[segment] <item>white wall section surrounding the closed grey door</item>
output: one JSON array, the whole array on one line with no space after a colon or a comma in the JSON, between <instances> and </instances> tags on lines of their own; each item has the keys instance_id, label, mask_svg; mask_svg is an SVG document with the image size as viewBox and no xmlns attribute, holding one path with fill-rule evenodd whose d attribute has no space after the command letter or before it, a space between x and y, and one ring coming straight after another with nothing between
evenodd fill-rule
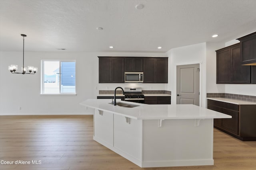
<instances>
[{"instance_id":1,"label":"white wall section surrounding the closed grey door","mask_svg":"<svg viewBox=\"0 0 256 170\"><path fill-rule=\"evenodd\" d=\"M206 107L206 43L178 47L167 52L169 57L169 83L167 90L172 91L172 104L176 104L176 66L200 64L200 103ZM203 94L203 95L202 95Z\"/></svg>"}]
</instances>

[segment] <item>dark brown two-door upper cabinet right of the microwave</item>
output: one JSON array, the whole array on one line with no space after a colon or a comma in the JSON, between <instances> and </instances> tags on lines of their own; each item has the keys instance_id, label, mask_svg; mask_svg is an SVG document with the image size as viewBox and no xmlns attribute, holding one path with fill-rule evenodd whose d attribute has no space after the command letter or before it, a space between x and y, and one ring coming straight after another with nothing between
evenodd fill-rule
<instances>
[{"instance_id":1,"label":"dark brown two-door upper cabinet right of the microwave","mask_svg":"<svg viewBox=\"0 0 256 170\"><path fill-rule=\"evenodd\" d=\"M144 58L144 83L168 83L168 58Z\"/></svg>"}]
</instances>

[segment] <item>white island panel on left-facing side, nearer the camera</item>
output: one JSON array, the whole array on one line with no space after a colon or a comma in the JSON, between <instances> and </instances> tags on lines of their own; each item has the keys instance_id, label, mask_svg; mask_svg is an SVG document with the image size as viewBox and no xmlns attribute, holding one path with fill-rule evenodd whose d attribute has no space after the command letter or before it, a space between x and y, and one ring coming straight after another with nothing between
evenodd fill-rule
<instances>
[{"instance_id":1,"label":"white island panel on left-facing side, nearer the camera","mask_svg":"<svg viewBox=\"0 0 256 170\"><path fill-rule=\"evenodd\" d=\"M114 114L114 148L119 150L118 154L141 166L142 120Z\"/></svg>"}]
</instances>

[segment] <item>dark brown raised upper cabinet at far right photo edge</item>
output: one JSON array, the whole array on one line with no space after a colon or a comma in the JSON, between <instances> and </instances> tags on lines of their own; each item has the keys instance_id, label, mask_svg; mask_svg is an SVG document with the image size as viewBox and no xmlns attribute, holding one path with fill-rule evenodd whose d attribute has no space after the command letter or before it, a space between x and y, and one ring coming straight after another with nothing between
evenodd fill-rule
<instances>
[{"instance_id":1,"label":"dark brown raised upper cabinet at far right photo edge","mask_svg":"<svg viewBox=\"0 0 256 170\"><path fill-rule=\"evenodd\" d=\"M241 64L256 65L256 32L238 38L241 47Z\"/></svg>"}]
</instances>

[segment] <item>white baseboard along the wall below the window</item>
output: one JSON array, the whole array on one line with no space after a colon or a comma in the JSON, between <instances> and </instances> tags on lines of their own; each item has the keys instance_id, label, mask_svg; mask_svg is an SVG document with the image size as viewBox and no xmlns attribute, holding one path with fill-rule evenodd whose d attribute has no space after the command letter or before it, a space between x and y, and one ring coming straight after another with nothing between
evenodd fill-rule
<instances>
[{"instance_id":1,"label":"white baseboard along the wall below the window","mask_svg":"<svg viewBox=\"0 0 256 170\"><path fill-rule=\"evenodd\" d=\"M93 115L93 113L0 113L0 116L10 115Z\"/></svg>"}]
</instances>

